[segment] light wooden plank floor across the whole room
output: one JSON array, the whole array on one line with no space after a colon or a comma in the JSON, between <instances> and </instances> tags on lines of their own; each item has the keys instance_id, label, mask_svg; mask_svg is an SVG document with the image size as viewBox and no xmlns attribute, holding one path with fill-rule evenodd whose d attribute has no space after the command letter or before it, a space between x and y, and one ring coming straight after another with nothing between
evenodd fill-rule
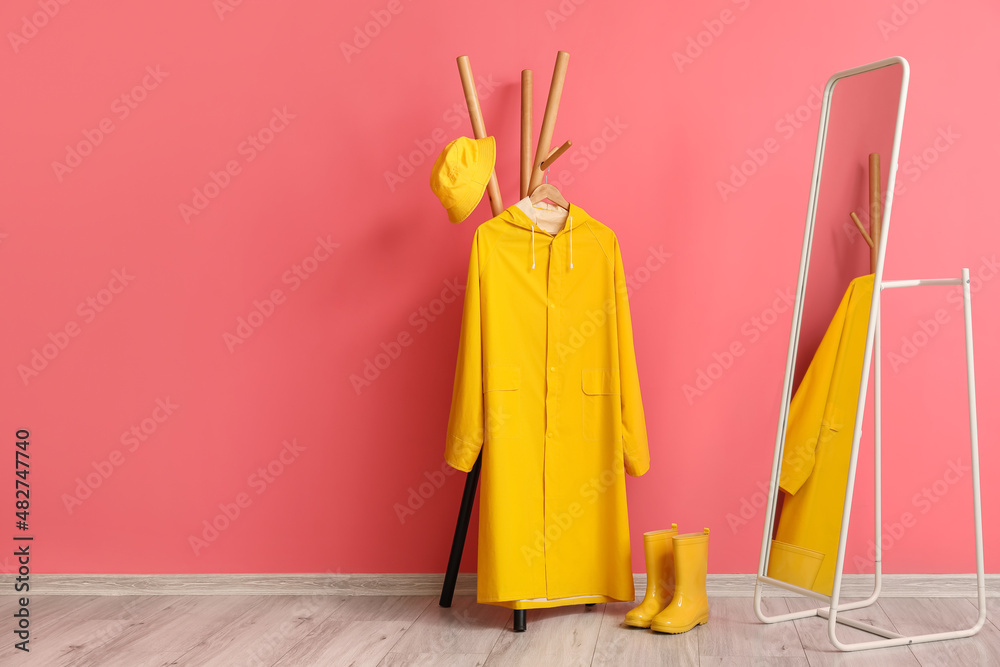
<instances>
[{"instance_id":1,"label":"light wooden plank floor across the whole room","mask_svg":"<svg viewBox=\"0 0 1000 667\"><path fill-rule=\"evenodd\" d=\"M767 598L772 614L805 609L804 598ZM710 598L711 618L682 635L623 626L632 603L512 612L457 597L37 596L31 652L3 632L0 665L1000 665L1000 631L988 620L976 637L841 653L818 618L764 625L750 598ZM1000 599L988 600L988 619ZM968 627L974 600L887 598L849 615L902 633ZM11 623L11 617L7 623ZM872 639L845 628L845 641Z\"/></svg>"}]
</instances>

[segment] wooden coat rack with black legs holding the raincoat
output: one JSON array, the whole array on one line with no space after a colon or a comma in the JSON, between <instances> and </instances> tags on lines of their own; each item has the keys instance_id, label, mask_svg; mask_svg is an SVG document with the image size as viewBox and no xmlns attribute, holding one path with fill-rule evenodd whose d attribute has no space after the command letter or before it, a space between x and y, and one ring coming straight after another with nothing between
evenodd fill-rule
<instances>
[{"instance_id":1,"label":"wooden coat rack with black legs holding the raincoat","mask_svg":"<svg viewBox=\"0 0 1000 667\"><path fill-rule=\"evenodd\" d=\"M531 111L532 111L532 73L530 69L521 70L521 180L519 192L521 199L534 192L541 184L544 172L559 156L572 146L567 141L559 148L549 152L552 146L552 134L555 130L556 115L559 112L559 99L562 97L563 82L566 79L566 68L569 65L569 53L559 51L556 54L556 64L552 71L552 82L549 84L549 96L545 102L545 115L542 116L542 127L538 134L538 147L534 156L531 153ZM458 73L462 79L462 90L465 92L465 103L469 108L469 120L472 121L472 132L476 139L486 138L486 125L483 122L483 111L479 106L479 95L476 93L475 80L472 77L472 66L468 56L458 57ZM503 212L503 201L500 198L500 186L497 183L496 170L490 175L486 186L490 197L490 208L493 215ZM479 471L483 464L483 454L479 453L475 465L465 478L465 491L462 493L462 503L458 509L458 522L455 525L455 537L451 543L451 554L448 556L448 569L445 571L444 585L441 588L442 607L450 607L455 596L455 583L458 581L458 568L462 562L462 552L465 550L465 538L469 532L469 520L472 517L472 505L476 499L476 488L479 486ZM592 606L592 605L587 605ZM524 632L527 628L527 613L525 609L514 610L514 632Z\"/></svg>"}]
</instances>

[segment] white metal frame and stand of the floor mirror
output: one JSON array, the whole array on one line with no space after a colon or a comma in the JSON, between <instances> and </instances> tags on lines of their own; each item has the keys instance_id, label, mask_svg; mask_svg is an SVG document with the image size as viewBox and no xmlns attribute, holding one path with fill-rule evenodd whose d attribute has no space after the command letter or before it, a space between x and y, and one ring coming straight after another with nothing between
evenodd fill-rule
<instances>
[{"instance_id":1,"label":"white metal frame and stand of the floor mirror","mask_svg":"<svg viewBox=\"0 0 1000 667\"><path fill-rule=\"evenodd\" d=\"M896 125L893 135L892 142L892 157L889 161L889 178L886 186L885 195L885 206L884 213L882 217L882 227L881 227L881 237L879 239L878 248L878 258L875 266L875 279L874 287L872 289L872 304L871 310L868 318L868 332L865 341L865 355L864 355L864 366L862 368L861 374L861 388L858 392L858 405L857 413L854 421L854 434L851 443L851 462L850 469L847 478L847 488L844 496L844 511L841 517L841 529L840 529L840 545L837 550L837 565L834 575L833 582L833 594L831 596L824 595L822 593L817 593L816 591L802 588L800 586L795 586L778 579L773 579L766 576L768 558L770 555L769 546L771 543L771 536L774 533L774 523L775 523L775 509L777 507L778 500L778 480L780 475L780 464L784 454L784 442L785 435L788 427L788 411L790 407L791 394L792 394L792 383L795 371L795 359L798 352L798 341L799 332L802 323L802 307L805 301L805 288L806 288L806 277L809 270L809 256L812 251L812 240L813 231L816 222L816 208L819 199L819 186L822 175L823 167L823 154L826 147L826 133L827 125L830 116L830 103L833 96L833 89L836 83L846 77L862 74L864 72L869 72L876 69L881 69L883 67L888 67L891 65L900 65L902 67L902 80L900 82L899 91L899 108L896 115ZM962 278L958 279L943 279L943 280L901 280L901 281L889 281L883 282L882 280L882 268L885 260L885 249L887 245L887 240L889 238L889 222L890 215L892 213L892 200L893 200L893 190L895 188L896 182L896 169L898 166L898 156L899 156L899 143L900 137L903 130L903 112L906 108L906 92L909 85L910 79L910 67L904 58L893 57L887 58L885 60L879 60L877 62L870 63L868 65L863 65L861 67L855 67L852 69L844 70L842 72L837 72L830 80L827 81L826 89L823 93L823 110L820 116L819 134L816 141L816 156L813 163L813 174L812 174L812 184L810 186L809 192L809 209L806 217L806 230L802 241L802 259L799 264L799 277L798 286L796 288L795 294L795 307L792 316L792 330L789 336L788 342L788 356L785 362L785 381L784 387L781 393L781 410L778 420L778 431L775 438L774 446L774 461L771 466L771 483L768 490L768 504L767 512L764 517L764 534L761 543L760 551L760 561L757 570L757 583L754 590L754 611L757 617L764 623L776 623L780 621L789 621L799 618L807 618L810 616L820 616L827 618L829 620L829 638L831 643L840 650L843 651L856 651L869 648L882 648L888 646L900 646L906 644L915 644L928 641L937 641L942 639L953 639L958 637L969 637L976 634L984 625L986 621L986 589L985 589L985 575L983 566L983 548L982 548L982 518L980 512L980 492L979 492L979 450L978 450L978 438L977 438L977 428L976 428L976 402L975 402L975 376L973 371L973 359L972 359L972 320L971 320L971 303L970 303L970 289L969 289L969 273L968 269L963 269ZM885 630L882 628L877 628L875 626L860 623L854 621L853 619L838 618L837 614L839 612L848 611L851 609L860 609L863 607L870 606L875 603L878 599L879 593L882 588L882 531L881 531L881 382L880 382L880 327L879 327L879 311L881 305L881 293L883 289L888 289L891 287L915 287L915 286L925 286L925 285L961 285L963 288L963 299L965 305L965 322L966 322L966 363L967 363L967 378L968 378L968 389L969 389L969 418L971 425L971 441L972 441L972 479L973 479L973 507L974 507L974 519L976 526L976 565L977 565L977 583L978 583L978 593L979 593L979 617L977 623L971 628L965 630L956 630L948 632L938 632L925 635L914 635L914 636L903 636L898 633ZM868 375L869 370L872 367L872 359L875 359L875 376L874 376L874 454L875 454L875 582L874 590L872 594L860 601L851 602L847 604L840 604L841 587L843 584L843 569L844 569L844 559L847 546L847 533L850 524L851 515L851 501L854 495L854 482L855 482L855 472L857 470L857 460L858 451L861 441L861 426L864 421L864 410L865 401L868 392ZM808 609L800 612L793 612L789 614L781 614L778 616L769 616L764 613L761 608L761 599L763 593L763 585L770 584L778 588L782 588L786 591L793 593L798 593L810 598L817 600L822 600L829 603L829 606L819 607L815 609ZM836 626L838 623L848 625L859 630L864 630L876 634L878 636L884 637L885 639L868 641L868 642L855 642L850 644L845 644L840 641L837 637Z\"/></svg>"}]
</instances>

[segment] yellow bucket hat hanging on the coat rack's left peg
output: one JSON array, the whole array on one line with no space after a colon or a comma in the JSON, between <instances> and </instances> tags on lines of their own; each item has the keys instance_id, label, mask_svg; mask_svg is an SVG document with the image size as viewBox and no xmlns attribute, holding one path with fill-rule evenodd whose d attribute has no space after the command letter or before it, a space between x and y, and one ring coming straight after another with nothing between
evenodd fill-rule
<instances>
[{"instance_id":1,"label":"yellow bucket hat hanging on the coat rack's left peg","mask_svg":"<svg viewBox=\"0 0 1000 667\"><path fill-rule=\"evenodd\" d=\"M449 220L462 222L479 206L496 157L493 137L459 137L441 151L431 169L431 190L448 211Z\"/></svg>"}]
</instances>

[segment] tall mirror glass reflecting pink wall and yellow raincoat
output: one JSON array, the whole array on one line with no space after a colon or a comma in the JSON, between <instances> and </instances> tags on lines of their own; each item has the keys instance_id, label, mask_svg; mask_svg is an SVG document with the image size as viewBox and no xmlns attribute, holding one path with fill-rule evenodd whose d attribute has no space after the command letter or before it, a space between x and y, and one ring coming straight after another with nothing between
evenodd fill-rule
<instances>
[{"instance_id":1,"label":"tall mirror glass reflecting pink wall and yellow raincoat","mask_svg":"<svg viewBox=\"0 0 1000 667\"><path fill-rule=\"evenodd\" d=\"M773 579L824 595L833 590L871 313L877 221L893 185L889 166L904 78L899 63L837 76L825 141L818 142L813 224L810 229L807 222L803 244L798 338L789 346L792 377L786 378L792 398L766 570ZM852 212L875 236L876 250Z\"/></svg>"}]
</instances>

